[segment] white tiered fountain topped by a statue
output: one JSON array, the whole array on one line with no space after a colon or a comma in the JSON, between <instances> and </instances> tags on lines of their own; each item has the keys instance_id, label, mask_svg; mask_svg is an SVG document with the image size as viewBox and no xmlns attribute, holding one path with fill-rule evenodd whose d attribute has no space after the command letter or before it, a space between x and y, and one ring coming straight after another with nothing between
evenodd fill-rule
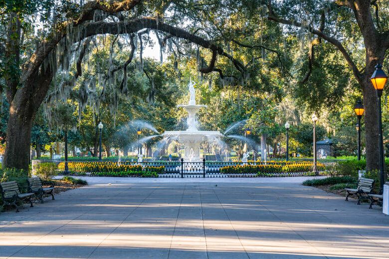
<instances>
[{"instance_id":1,"label":"white tiered fountain topped by a statue","mask_svg":"<svg viewBox=\"0 0 389 259\"><path fill-rule=\"evenodd\" d=\"M184 161L186 162L200 162L200 143L206 139L216 140L222 134L219 131L202 131L197 129L196 113L200 108L206 108L206 105L196 105L195 101L195 83L189 82L189 92L191 99L188 105L178 105L177 107L184 107L188 112L187 124L188 129L186 131L165 131L162 136L171 137L182 143L185 147Z\"/></svg>"}]
</instances>

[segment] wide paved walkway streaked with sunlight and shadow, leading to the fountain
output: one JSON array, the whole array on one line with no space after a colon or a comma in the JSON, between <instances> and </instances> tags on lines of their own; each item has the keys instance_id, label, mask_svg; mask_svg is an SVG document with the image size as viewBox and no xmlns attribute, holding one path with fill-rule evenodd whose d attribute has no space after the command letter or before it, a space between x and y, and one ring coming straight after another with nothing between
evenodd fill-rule
<instances>
[{"instance_id":1,"label":"wide paved walkway streaked with sunlight and shadow, leading to the fountain","mask_svg":"<svg viewBox=\"0 0 389 259\"><path fill-rule=\"evenodd\" d=\"M55 201L1 213L0 258L389 258L379 207L302 178L168 180L91 177Z\"/></svg>"}]
</instances>

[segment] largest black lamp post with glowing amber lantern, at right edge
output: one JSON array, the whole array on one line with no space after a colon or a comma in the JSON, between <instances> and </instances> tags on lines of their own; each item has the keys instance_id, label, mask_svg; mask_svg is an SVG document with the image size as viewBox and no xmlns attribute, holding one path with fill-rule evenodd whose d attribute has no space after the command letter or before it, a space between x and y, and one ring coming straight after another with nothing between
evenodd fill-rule
<instances>
[{"instance_id":1,"label":"largest black lamp post with glowing amber lantern, at right edge","mask_svg":"<svg viewBox=\"0 0 389 259\"><path fill-rule=\"evenodd\" d=\"M370 80L372 80L373 86L376 89L378 97L378 123L379 123L379 135L380 135L380 187L384 188L384 140L382 136L382 116L381 116L381 96L384 90L385 83L387 82L388 76L382 70L382 65L377 64L376 70L374 71Z\"/></svg>"}]
</instances>

